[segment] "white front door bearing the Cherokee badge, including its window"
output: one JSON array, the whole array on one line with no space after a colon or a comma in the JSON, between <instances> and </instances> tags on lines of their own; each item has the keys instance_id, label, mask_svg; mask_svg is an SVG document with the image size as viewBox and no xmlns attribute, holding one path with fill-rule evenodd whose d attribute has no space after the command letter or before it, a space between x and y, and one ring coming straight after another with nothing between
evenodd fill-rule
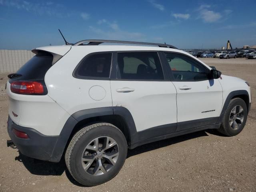
<instances>
[{"instance_id":1,"label":"white front door bearing the Cherokee badge, including its window","mask_svg":"<svg viewBox=\"0 0 256 192\"><path fill-rule=\"evenodd\" d=\"M172 82L177 90L177 130L215 124L222 109L222 87L208 79L210 70L194 58L165 52Z\"/></svg>"}]
</instances>

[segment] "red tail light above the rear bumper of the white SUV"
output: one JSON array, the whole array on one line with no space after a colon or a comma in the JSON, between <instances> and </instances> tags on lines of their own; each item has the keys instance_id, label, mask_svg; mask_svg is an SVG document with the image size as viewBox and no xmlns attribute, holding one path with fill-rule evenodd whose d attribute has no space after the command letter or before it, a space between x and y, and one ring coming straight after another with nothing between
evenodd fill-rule
<instances>
[{"instance_id":1,"label":"red tail light above the rear bumper of the white SUV","mask_svg":"<svg viewBox=\"0 0 256 192\"><path fill-rule=\"evenodd\" d=\"M46 87L39 81L14 81L11 83L11 92L27 95L44 95Z\"/></svg>"}]
</instances>

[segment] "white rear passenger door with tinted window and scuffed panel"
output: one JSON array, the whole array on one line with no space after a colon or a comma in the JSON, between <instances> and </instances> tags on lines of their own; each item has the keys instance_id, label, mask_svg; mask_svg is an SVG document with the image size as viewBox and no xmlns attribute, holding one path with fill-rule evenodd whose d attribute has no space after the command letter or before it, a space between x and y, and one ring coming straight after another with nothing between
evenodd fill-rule
<instances>
[{"instance_id":1,"label":"white rear passenger door with tinted window and scuffed panel","mask_svg":"<svg viewBox=\"0 0 256 192\"><path fill-rule=\"evenodd\" d=\"M117 76L110 80L113 106L130 111L142 133L139 140L175 132L176 88L158 52L117 52L116 61Z\"/></svg>"}]
</instances>

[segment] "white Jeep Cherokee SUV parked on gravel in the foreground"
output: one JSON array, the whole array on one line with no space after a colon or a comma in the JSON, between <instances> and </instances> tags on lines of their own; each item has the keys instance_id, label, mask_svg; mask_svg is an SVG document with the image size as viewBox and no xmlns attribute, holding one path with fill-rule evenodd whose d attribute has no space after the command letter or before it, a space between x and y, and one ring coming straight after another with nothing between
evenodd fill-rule
<instances>
[{"instance_id":1,"label":"white Jeep Cherokee SUV parked on gravel in the foreground","mask_svg":"<svg viewBox=\"0 0 256 192\"><path fill-rule=\"evenodd\" d=\"M246 81L171 45L84 40L32 52L8 75L8 144L40 160L64 156L86 186L113 178L127 148L206 129L234 136L250 110Z\"/></svg>"}]
</instances>

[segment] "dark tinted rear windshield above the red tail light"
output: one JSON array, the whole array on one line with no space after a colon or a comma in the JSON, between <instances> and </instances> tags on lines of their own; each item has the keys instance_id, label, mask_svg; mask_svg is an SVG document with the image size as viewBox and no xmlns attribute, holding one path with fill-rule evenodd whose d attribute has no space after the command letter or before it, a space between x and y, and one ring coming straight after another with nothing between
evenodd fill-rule
<instances>
[{"instance_id":1,"label":"dark tinted rear windshield above the red tail light","mask_svg":"<svg viewBox=\"0 0 256 192\"><path fill-rule=\"evenodd\" d=\"M39 52L24 64L16 73L22 80L44 80L46 72L52 66L53 56L50 53Z\"/></svg>"}]
</instances>

